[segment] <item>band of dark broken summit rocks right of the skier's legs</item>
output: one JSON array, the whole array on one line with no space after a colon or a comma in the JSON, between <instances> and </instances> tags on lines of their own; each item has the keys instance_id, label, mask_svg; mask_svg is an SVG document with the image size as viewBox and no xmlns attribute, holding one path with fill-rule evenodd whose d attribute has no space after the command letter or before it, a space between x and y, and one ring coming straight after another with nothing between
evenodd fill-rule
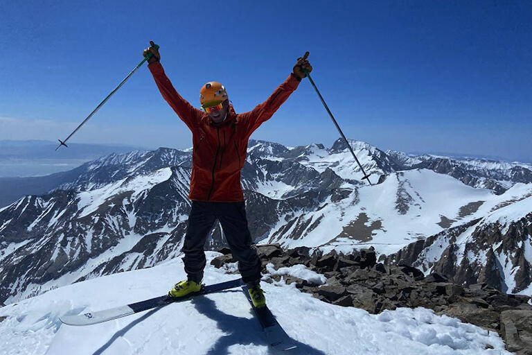
<instances>
[{"instance_id":1,"label":"band of dark broken summit rocks right of the skier's legs","mask_svg":"<svg viewBox=\"0 0 532 355\"><path fill-rule=\"evenodd\" d=\"M506 341L509 351L531 354L532 306L526 295L507 295L486 283L465 287L455 284L445 275L433 272L427 277L406 263L386 266L375 263L373 248L355 254L328 254L308 248L282 250L278 244L257 245L263 272L267 263L275 269L304 264L310 270L323 273L326 284L313 285L293 276L285 276L287 284L312 293L323 302L337 306L354 306L369 313L380 313L398 307L425 307L440 315L449 315L462 322L497 331ZM227 252L227 250L226 250ZM231 261L224 254L211 262L216 267ZM272 277L280 281L280 276ZM265 279L272 282L272 279Z\"/></svg>"}]
</instances>

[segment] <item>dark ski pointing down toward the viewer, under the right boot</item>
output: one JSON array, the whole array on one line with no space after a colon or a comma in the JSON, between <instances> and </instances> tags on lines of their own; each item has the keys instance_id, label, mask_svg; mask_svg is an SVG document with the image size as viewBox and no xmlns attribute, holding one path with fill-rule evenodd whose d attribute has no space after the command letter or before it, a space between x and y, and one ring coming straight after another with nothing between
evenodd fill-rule
<instances>
[{"instance_id":1,"label":"dark ski pointing down toward the viewer, under the right boot","mask_svg":"<svg viewBox=\"0 0 532 355\"><path fill-rule=\"evenodd\" d=\"M277 322L272 311L270 311L267 306L256 308L253 305L253 301L251 300L249 292L247 292L247 284L242 282L240 286L242 287L242 291L244 291L249 304L251 304L251 308L260 322L260 326L263 327L268 345L278 352L287 352L292 349L296 349L296 343L294 343L294 340L292 340L292 338L286 334L285 329L283 329L281 324Z\"/></svg>"}]
</instances>

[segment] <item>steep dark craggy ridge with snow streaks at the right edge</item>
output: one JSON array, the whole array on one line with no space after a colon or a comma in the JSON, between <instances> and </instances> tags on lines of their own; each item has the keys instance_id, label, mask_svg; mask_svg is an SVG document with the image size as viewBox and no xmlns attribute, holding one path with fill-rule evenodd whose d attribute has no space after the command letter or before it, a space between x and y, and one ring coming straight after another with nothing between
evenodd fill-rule
<instances>
[{"instance_id":1,"label":"steep dark craggy ridge with snow streaks at the right edge","mask_svg":"<svg viewBox=\"0 0 532 355\"><path fill-rule=\"evenodd\" d=\"M471 232L465 233L469 228ZM532 265L526 259L530 249L532 212L506 224L472 220L410 243L382 257L382 261L387 265L406 263L424 272L438 272L463 286L484 283L502 292L518 293L532 282Z\"/></svg>"}]
</instances>

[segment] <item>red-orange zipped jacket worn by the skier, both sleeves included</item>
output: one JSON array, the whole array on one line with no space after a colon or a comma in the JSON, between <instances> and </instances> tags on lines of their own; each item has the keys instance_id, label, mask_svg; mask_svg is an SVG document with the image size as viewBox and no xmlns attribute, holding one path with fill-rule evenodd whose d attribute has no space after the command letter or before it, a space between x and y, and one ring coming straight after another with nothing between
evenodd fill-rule
<instances>
[{"instance_id":1,"label":"red-orange zipped jacket worn by the skier, both sleeves included","mask_svg":"<svg viewBox=\"0 0 532 355\"><path fill-rule=\"evenodd\" d=\"M294 92L299 81L290 74L272 96L253 110L236 114L229 105L227 119L215 124L206 112L182 98L170 83L159 62L148 66L163 98L192 131L192 176L190 200L243 201L240 171L246 161L247 141L261 123Z\"/></svg>"}]
</instances>

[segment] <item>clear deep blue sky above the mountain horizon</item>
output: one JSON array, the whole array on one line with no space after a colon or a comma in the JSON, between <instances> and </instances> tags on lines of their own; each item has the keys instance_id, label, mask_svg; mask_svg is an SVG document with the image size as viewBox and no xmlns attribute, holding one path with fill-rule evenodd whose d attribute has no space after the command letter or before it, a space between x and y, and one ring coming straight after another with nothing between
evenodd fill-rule
<instances>
[{"instance_id":1,"label":"clear deep blue sky above the mountain horizon","mask_svg":"<svg viewBox=\"0 0 532 355\"><path fill-rule=\"evenodd\" d=\"M0 139L64 139L154 40L186 99L225 85L251 110L310 51L351 139L532 162L532 1L0 0ZM339 137L308 80L252 136ZM142 67L71 140L187 148Z\"/></svg>"}]
</instances>

